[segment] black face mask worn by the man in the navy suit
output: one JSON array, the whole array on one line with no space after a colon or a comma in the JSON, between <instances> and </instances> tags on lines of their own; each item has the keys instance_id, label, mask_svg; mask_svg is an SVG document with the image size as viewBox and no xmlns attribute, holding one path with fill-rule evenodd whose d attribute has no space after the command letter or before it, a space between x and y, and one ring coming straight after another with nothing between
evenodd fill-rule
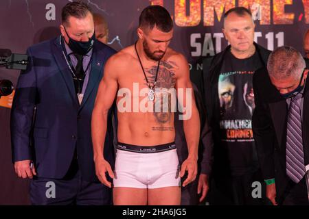
<instances>
[{"instance_id":1,"label":"black face mask worn by the man in the navy suit","mask_svg":"<svg viewBox=\"0 0 309 219\"><path fill-rule=\"evenodd\" d=\"M66 29L65 33L67 34ZM67 45L73 51L73 53L86 55L93 48L95 32L93 32L93 36L91 36L91 38L87 42L73 40L72 38L70 38L69 34L67 34L67 37L69 38L69 43L67 43Z\"/></svg>"}]
</instances>

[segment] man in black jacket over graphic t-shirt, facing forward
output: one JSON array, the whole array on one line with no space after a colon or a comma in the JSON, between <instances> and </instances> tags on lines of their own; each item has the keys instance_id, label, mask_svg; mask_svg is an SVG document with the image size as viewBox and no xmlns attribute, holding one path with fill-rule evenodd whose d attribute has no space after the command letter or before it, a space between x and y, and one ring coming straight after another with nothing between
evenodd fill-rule
<instances>
[{"instance_id":1,"label":"man in black jacket over graphic t-shirt, facing forward","mask_svg":"<svg viewBox=\"0 0 309 219\"><path fill-rule=\"evenodd\" d=\"M233 205L264 202L264 197L252 196L252 183L262 181L251 129L255 108L252 77L266 65L270 51L253 42L254 28L247 8L225 13L222 31L230 45L203 60L203 84L199 85L214 137L216 188Z\"/></svg>"}]
</instances>

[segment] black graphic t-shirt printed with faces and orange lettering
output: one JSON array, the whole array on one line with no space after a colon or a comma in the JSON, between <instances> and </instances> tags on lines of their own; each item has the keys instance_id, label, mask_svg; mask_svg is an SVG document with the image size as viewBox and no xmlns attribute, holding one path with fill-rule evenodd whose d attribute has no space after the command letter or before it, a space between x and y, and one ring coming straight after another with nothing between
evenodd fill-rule
<instances>
[{"instance_id":1,"label":"black graphic t-shirt printed with faces and orange lettering","mask_svg":"<svg viewBox=\"0 0 309 219\"><path fill-rule=\"evenodd\" d=\"M231 175L245 175L258 169L251 125L255 108L252 78L261 67L257 51L246 59L238 59L229 51L222 64L218 80L220 147L228 159Z\"/></svg>"}]
</instances>

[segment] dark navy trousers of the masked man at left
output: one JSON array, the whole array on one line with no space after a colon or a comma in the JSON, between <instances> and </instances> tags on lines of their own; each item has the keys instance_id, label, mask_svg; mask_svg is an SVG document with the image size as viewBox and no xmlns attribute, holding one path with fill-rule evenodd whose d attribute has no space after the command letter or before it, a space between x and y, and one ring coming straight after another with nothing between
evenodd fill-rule
<instances>
[{"instance_id":1,"label":"dark navy trousers of the masked man at left","mask_svg":"<svg viewBox=\"0 0 309 219\"><path fill-rule=\"evenodd\" d=\"M102 183L84 181L73 159L63 179L34 177L30 182L32 205L111 205L111 189Z\"/></svg>"}]
</instances>

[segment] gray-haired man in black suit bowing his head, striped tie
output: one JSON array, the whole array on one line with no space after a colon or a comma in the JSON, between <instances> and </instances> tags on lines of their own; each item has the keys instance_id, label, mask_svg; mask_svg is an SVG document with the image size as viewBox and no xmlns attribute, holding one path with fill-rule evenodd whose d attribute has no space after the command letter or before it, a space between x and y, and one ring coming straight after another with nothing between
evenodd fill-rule
<instances>
[{"instance_id":1,"label":"gray-haired man in black suit bowing his head, striped tie","mask_svg":"<svg viewBox=\"0 0 309 219\"><path fill-rule=\"evenodd\" d=\"M253 135L266 195L273 205L308 205L309 92L306 62L279 47L253 76Z\"/></svg>"}]
</instances>

